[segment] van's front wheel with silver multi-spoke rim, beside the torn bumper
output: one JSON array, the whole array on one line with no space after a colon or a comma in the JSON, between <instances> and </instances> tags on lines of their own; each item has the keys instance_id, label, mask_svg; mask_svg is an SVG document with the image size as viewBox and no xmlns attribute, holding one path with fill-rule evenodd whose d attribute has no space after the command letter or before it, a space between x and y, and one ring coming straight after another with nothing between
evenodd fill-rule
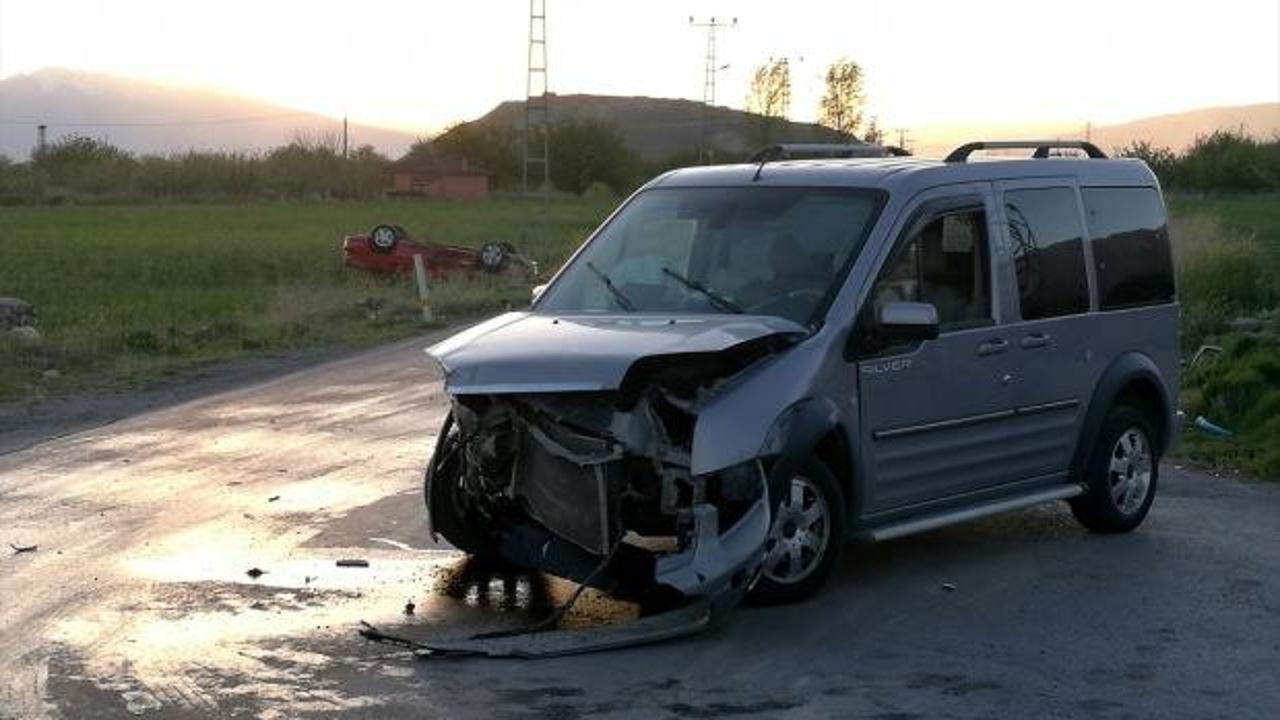
<instances>
[{"instance_id":1,"label":"van's front wheel with silver multi-spoke rim, beside the torn bumper","mask_svg":"<svg viewBox=\"0 0 1280 720\"><path fill-rule=\"evenodd\" d=\"M764 566L749 593L751 602L778 605L804 600L831 575L845 538L845 501L831 470L810 457L774 496L764 544Z\"/></svg>"}]
</instances>

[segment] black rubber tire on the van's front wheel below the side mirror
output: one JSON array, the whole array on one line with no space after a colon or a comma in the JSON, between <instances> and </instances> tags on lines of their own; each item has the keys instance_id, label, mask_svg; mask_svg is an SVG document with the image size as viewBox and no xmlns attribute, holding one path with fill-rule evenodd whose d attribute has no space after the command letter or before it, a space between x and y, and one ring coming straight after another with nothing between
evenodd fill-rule
<instances>
[{"instance_id":1,"label":"black rubber tire on the van's front wheel below the side mirror","mask_svg":"<svg viewBox=\"0 0 1280 720\"><path fill-rule=\"evenodd\" d=\"M840 489L836 475L820 460L809 457L787 486L797 480L803 480L801 484L805 487L801 505L805 505L812 491L814 501L820 498L826 507L823 516L826 539L817 551L801 550L800 566L804 569L803 574L799 574L794 580L785 579L787 573L782 571L781 562L787 562L787 570L790 570L790 562L782 560L774 566L772 559L776 551L787 552L785 544L780 548L780 543L796 541L803 530L795 527L795 524L787 527L787 506L792 505L790 502L791 488L786 486L771 488L769 495L776 498L772 500L773 527L769 529L769 539L765 543L764 568L760 571L759 579L756 579L748 593L748 600L753 603L782 605L812 597L827 582L831 570L836 566L836 560L840 557L840 551L845 546L845 496ZM805 528L805 530L812 530L812 528L813 525ZM788 530L791 530L790 536ZM810 556L812 561L809 560Z\"/></svg>"}]
</instances>

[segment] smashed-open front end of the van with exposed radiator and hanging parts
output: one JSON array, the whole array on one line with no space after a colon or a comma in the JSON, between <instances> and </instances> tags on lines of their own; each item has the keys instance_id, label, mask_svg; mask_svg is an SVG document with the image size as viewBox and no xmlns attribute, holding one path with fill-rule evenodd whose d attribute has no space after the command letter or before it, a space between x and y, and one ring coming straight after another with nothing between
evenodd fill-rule
<instances>
[{"instance_id":1,"label":"smashed-open front end of the van with exposed radiator and hanging parts","mask_svg":"<svg viewBox=\"0 0 1280 720\"><path fill-rule=\"evenodd\" d=\"M643 357L611 391L452 396L428 468L433 532L620 597L745 591L771 459L695 475L694 427L722 384L787 343Z\"/></svg>"}]
</instances>

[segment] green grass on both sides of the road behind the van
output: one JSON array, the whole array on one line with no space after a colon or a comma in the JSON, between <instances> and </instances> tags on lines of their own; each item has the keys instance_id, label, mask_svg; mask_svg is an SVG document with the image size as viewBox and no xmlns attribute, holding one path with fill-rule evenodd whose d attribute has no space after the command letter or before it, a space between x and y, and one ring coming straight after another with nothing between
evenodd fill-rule
<instances>
[{"instance_id":1,"label":"green grass on both sides of the road behind the van","mask_svg":"<svg viewBox=\"0 0 1280 720\"><path fill-rule=\"evenodd\" d=\"M415 234L479 246L507 240L549 272L616 200L559 199L547 232L520 242L536 204L247 202L5 208L0 296L36 305L44 341L0 340L0 400L152 382L192 365L300 347L358 347L424 324L407 278L343 268L344 233L394 222ZM1280 197L1170 199L1183 350L1225 345L1217 365L1185 378L1192 418L1238 428L1230 441L1188 432L1184 452L1260 477L1280 477ZM436 313L461 318L524 305L527 288L454 281L434 291ZM1258 343L1236 343L1229 322L1260 316ZM1267 334L1267 329L1271 328ZM58 377L46 377L46 370ZM1261 409L1261 410L1260 410ZM1271 410L1267 410L1271 409ZM1260 415L1263 413L1263 415Z\"/></svg>"}]
</instances>

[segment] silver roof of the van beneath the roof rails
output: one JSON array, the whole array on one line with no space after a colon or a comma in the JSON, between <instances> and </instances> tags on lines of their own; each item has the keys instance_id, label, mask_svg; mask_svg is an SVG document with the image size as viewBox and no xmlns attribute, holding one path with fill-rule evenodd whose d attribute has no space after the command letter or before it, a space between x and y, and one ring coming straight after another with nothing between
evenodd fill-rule
<instances>
[{"instance_id":1,"label":"silver roof of the van beneath the roof rails","mask_svg":"<svg viewBox=\"0 0 1280 720\"><path fill-rule=\"evenodd\" d=\"M759 170L759 178L755 178ZM873 187L916 192L959 182L1075 177L1084 186L1156 186L1142 160L1085 158L1014 158L945 163L920 158L845 158L777 163L707 165L672 170L649 187Z\"/></svg>"}]
</instances>

